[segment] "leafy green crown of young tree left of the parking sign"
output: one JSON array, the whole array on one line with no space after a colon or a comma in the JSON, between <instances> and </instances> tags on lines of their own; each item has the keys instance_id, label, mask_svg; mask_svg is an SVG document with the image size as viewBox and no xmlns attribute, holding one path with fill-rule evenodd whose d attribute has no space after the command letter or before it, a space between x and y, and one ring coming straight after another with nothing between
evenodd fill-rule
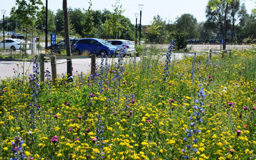
<instances>
[{"instance_id":1,"label":"leafy green crown of young tree left of the parking sign","mask_svg":"<svg viewBox=\"0 0 256 160\"><path fill-rule=\"evenodd\" d=\"M16 0L16 8L12 7L11 17L12 20L20 20L21 24L24 24L26 28L33 26L37 21L40 21L40 14L44 11L43 2L41 0ZM41 9L40 9L40 6Z\"/></svg>"}]
</instances>

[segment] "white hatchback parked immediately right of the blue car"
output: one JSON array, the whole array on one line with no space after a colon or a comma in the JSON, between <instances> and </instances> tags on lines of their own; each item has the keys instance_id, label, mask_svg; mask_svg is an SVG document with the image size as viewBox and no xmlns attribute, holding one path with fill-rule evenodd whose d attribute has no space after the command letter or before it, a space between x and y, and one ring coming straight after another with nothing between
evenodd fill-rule
<instances>
[{"instance_id":1,"label":"white hatchback parked immediately right of the blue car","mask_svg":"<svg viewBox=\"0 0 256 160\"><path fill-rule=\"evenodd\" d=\"M110 41L107 41L108 43L118 47L119 49L122 48L122 44L123 45L126 45L126 48L124 49L124 52L126 55L129 55L131 53L134 52L134 45L132 44L131 41L127 41L127 40L110 40ZM129 52L130 51L130 52Z\"/></svg>"}]
</instances>

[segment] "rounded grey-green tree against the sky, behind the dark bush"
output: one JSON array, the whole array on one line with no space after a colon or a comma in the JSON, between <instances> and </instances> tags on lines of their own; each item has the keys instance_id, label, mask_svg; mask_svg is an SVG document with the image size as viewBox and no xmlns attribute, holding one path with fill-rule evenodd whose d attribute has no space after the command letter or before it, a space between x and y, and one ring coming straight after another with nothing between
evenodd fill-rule
<instances>
[{"instance_id":1,"label":"rounded grey-green tree against the sky, behind the dark bush","mask_svg":"<svg viewBox=\"0 0 256 160\"><path fill-rule=\"evenodd\" d=\"M189 13L182 14L180 17L176 18L176 27L181 32L187 32L188 35L186 36L187 39L193 39L197 36L196 31L196 18Z\"/></svg>"}]
</instances>

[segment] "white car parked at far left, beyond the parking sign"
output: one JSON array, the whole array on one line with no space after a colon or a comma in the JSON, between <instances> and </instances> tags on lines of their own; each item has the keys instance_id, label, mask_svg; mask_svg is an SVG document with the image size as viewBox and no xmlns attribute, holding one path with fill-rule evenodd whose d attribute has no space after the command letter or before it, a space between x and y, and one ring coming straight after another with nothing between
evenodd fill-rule
<instances>
[{"instance_id":1,"label":"white car parked at far left, beyond the parking sign","mask_svg":"<svg viewBox=\"0 0 256 160\"><path fill-rule=\"evenodd\" d=\"M20 49L20 43L24 43L24 41L20 39L5 39L0 42L0 48L12 49L13 51ZM21 45L21 49L23 48L23 44ZM27 48L29 45L27 44Z\"/></svg>"}]
</instances>

